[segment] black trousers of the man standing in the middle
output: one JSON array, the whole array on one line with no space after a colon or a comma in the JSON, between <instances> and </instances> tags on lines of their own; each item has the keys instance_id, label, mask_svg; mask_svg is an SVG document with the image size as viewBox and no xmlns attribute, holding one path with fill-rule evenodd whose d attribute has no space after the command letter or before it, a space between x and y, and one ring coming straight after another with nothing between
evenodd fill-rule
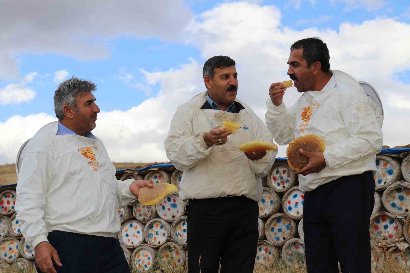
<instances>
[{"instance_id":1,"label":"black trousers of the man standing in the middle","mask_svg":"<svg viewBox=\"0 0 410 273\"><path fill-rule=\"evenodd\" d=\"M244 196L189 201L188 273L252 273L258 205Z\"/></svg>"}]
</instances>

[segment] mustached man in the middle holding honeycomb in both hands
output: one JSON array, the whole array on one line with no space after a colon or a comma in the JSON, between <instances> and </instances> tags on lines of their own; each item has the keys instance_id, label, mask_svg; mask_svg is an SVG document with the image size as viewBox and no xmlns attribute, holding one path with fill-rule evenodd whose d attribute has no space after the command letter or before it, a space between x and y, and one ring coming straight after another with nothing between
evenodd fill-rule
<instances>
[{"instance_id":1,"label":"mustached man in the middle holding honeycomb in both hands","mask_svg":"<svg viewBox=\"0 0 410 273\"><path fill-rule=\"evenodd\" d=\"M167 157L184 171L180 198L187 212L188 272L252 273L258 241L257 202L262 180L277 151L241 152L249 141L272 143L264 122L236 99L235 61L208 59L203 68L207 91L178 107L164 142ZM222 129L223 119L238 122Z\"/></svg>"}]
</instances>

